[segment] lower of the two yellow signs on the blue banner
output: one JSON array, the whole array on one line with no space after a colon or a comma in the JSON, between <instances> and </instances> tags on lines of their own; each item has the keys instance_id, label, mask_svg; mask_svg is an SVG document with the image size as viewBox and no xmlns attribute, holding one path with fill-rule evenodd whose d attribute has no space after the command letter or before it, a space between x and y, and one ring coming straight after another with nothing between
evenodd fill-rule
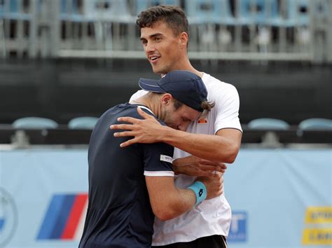
<instances>
[{"instance_id":1,"label":"lower of the two yellow signs on the blue banner","mask_svg":"<svg viewBox=\"0 0 332 248\"><path fill-rule=\"evenodd\" d=\"M306 228L303 230L302 243L332 245L332 228Z\"/></svg>"}]
</instances>

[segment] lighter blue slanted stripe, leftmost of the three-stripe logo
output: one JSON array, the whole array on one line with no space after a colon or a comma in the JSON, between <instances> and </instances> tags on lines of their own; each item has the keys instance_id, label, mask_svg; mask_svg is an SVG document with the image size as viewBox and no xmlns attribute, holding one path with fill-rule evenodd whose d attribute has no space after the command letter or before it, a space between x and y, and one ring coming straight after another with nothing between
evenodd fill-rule
<instances>
[{"instance_id":1,"label":"lighter blue slanted stripe, leftmost of the three-stripe logo","mask_svg":"<svg viewBox=\"0 0 332 248\"><path fill-rule=\"evenodd\" d=\"M55 223L57 223L57 219L62 212L65 198L66 195L53 195L45 219L39 230L37 240L48 240L51 238Z\"/></svg>"}]
</instances>

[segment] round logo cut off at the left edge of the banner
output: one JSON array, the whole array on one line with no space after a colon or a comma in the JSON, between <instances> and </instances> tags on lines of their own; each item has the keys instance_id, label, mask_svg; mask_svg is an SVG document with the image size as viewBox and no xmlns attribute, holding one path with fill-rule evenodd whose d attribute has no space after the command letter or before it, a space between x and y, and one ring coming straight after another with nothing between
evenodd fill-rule
<instances>
[{"instance_id":1,"label":"round logo cut off at the left edge of the banner","mask_svg":"<svg viewBox=\"0 0 332 248\"><path fill-rule=\"evenodd\" d=\"M18 226L18 211L11 195L0 188L0 247L11 240Z\"/></svg>"}]
</instances>

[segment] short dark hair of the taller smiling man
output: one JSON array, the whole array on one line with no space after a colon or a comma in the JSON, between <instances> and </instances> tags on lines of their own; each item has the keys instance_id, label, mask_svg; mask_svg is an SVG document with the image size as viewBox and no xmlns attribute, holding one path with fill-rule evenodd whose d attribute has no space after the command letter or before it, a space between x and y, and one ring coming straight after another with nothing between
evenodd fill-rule
<instances>
[{"instance_id":1,"label":"short dark hair of the taller smiling man","mask_svg":"<svg viewBox=\"0 0 332 248\"><path fill-rule=\"evenodd\" d=\"M142 27L152 27L155 22L159 21L165 22L173 30L174 35L186 32L189 37L186 13L178 6L159 5L148 8L139 13L136 24L141 29Z\"/></svg>"}]
</instances>

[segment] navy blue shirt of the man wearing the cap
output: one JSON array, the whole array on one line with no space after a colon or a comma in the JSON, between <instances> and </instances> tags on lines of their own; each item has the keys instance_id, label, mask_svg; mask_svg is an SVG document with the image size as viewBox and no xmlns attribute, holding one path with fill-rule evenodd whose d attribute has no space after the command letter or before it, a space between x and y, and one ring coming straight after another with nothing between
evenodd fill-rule
<instances>
[{"instance_id":1,"label":"navy blue shirt of the man wearing the cap","mask_svg":"<svg viewBox=\"0 0 332 248\"><path fill-rule=\"evenodd\" d=\"M92 132L88 150L88 212L79 247L151 247L154 215L144 173L174 175L168 160L174 149L165 143L120 148L120 143L132 137L113 137L119 131L110 130L109 126L118 123L121 116L141 118L137 106L114 106L99 118Z\"/></svg>"}]
</instances>

